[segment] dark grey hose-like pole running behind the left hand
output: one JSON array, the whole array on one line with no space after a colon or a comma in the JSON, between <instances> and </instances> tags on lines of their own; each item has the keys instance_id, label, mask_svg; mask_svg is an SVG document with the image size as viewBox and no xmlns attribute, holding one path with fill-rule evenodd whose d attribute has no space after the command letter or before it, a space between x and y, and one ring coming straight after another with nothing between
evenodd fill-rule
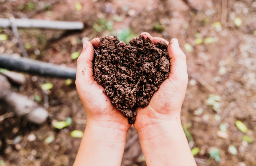
<instances>
[{"instance_id":1,"label":"dark grey hose-like pole running behind the left hand","mask_svg":"<svg viewBox=\"0 0 256 166\"><path fill-rule=\"evenodd\" d=\"M0 68L42 76L71 79L76 78L75 68L54 65L22 57L13 58L7 54L0 54Z\"/></svg>"}]
</instances>

